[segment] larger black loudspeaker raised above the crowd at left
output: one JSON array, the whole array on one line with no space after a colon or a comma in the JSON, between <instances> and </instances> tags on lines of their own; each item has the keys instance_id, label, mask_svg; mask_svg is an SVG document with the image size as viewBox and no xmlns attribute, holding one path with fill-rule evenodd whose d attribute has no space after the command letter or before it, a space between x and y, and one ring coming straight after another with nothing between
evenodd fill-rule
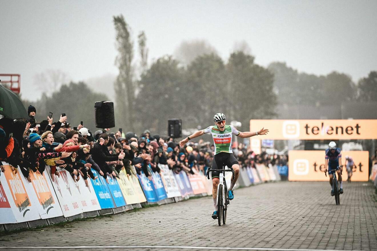
<instances>
[{"instance_id":1,"label":"larger black loudspeaker raised above the crowd at left","mask_svg":"<svg viewBox=\"0 0 377 251\"><path fill-rule=\"evenodd\" d=\"M98 101L94 104L95 127L115 127L114 103L111 101Z\"/></svg>"}]
</instances>

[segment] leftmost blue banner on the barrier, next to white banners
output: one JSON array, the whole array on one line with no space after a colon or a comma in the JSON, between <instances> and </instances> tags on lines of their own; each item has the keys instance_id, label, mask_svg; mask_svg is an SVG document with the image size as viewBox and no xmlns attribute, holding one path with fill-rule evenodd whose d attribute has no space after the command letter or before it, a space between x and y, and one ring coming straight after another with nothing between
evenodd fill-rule
<instances>
[{"instance_id":1,"label":"leftmost blue banner on the barrier, next to white banners","mask_svg":"<svg viewBox=\"0 0 377 251\"><path fill-rule=\"evenodd\" d=\"M111 196L109 187L107 186L106 180L98 174L98 172L92 169L94 176L98 177L97 180L92 180L93 189L97 195L98 202L100 202L101 208L114 208L115 204Z\"/></svg>"}]
</instances>

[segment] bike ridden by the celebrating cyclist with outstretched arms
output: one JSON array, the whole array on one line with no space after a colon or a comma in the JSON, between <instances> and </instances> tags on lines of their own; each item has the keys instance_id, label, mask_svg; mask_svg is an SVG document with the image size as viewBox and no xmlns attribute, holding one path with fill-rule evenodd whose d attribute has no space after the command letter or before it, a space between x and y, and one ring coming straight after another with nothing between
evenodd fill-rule
<instances>
[{"instance_id":1,"label":"bike ridden by the celebrating cyclist with outstretched arms","mask_svg":"<svg viewBox=\"0 0 377 251\"><path fill-rule=\"evenodd\" d=\"M216 195L216 202L218 206L218 222L219 226L221 226L221 221L225 224L227 221L227 210L229 205L229 198L228 198L228 188L227 183L225 182L225 172L232 172L233 179L234 179L234 170L230 167L230 169L211 169L208 167L207 170L207 178L210 179L210 172L220 172L219 175L219 185L217 186L217 195Z\"/></svg>"}]
</instances>

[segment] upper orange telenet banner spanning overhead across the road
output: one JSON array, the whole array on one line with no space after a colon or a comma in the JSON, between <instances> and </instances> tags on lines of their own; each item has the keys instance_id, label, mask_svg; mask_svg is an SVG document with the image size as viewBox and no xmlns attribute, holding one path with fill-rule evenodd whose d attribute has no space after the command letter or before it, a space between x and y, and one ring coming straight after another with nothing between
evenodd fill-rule
<instances>
[{"instance_id":1,"label":"upper orange telenet banner spanning overhead across the road","mask_svg":"<svg viewBox=\"0 0 377 251\"><path fill-rule=\"evenodd\" d=\"M251 132L263 127L271 140L377 139L377 119L250 120Z\"/></svg>"}]
</instances>

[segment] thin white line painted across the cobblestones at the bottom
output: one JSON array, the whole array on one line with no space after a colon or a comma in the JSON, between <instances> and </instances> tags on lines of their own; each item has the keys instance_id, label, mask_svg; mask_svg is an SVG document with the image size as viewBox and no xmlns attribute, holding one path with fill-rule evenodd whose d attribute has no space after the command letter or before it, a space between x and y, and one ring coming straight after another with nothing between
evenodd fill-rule
<instances>
[{"instance_id":1,"label":"thin white line painted across the cobblestones at the bottom","mask_svg":"<svg viewBox=\"0 0 377 251\"><path fill-rule=\"evenodd\" d=\"M1 246L0 249L69 249L69 248L180 248L218 250L271 250L271 251L351 251L343 249L294 249L294 248L231 248L215 246ZM356 251L356 250L352 250Z\"/></svg>"}]
</instances>

